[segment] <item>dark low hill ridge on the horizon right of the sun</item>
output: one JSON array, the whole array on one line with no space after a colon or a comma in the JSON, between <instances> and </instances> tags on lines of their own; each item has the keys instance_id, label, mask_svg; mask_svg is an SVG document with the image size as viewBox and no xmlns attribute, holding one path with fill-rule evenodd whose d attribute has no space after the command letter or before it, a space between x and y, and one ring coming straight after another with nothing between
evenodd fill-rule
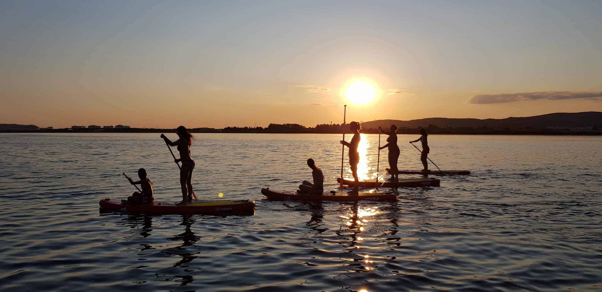
<instances>
[{"instance_id":1,"label":"dark low hill ridge on the horizon right of the sun","mask_svg":"<svg viewBox=\"0 0 602 292\"><path fill-rule=\"evenodd\" d=\"M557 112L554 114L536 115L534 117L522 118L488 118L479 120L477 118L421 118L419 120L377 120L362 123L364 129L377 129L379 126L386 128L391 124L397 127L415 129L427 127L429 124L439 128L451 126L459 127L488 127L488 128L545 128L545 127L602 127L602 112Z\"/></svg>"}]
</instances>

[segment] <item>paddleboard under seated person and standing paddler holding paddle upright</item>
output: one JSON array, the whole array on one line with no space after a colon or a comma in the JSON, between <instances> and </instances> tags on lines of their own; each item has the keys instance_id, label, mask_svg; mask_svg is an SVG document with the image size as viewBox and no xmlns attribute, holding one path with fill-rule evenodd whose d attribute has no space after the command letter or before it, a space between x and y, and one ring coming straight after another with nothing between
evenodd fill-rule
<instances>
[{"instance_id":1,"label":"paddleboard under seated person and standing paddler holding paddle upright","mask_svg":"<svg viewBox=\"0 0 602 292\"><path fill-rule=\"evenodd\" d=\"M306 195L299 192L290 192L288 190L273 190L269 187L261 189L261 193L267 196L268 199L276 201L284 201L287 199L299 201L394 201L397 196L394 193L377 193L377 192L359 192L359 195L349 195L348 192L324 192L321 196Z\"/></svg>"}]
</instances>

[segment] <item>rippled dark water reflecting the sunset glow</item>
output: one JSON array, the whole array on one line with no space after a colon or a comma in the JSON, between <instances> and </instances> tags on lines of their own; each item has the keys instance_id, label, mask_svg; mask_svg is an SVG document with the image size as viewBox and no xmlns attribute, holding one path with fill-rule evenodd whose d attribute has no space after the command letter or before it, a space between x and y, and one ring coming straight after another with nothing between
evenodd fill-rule
<instances>
[{"instance_id":1,"label":"rippled dark water reflecting the sunset glow","mask_svg":"<svg viewBox=\"0 0 602 292\"><path fill-rule=\"evenodd\" d=\"M365 137L371 175L378 136ZM433 135L433 161L473 175L400 188L396 202L322 204L259 190L310 179L308 157L336 187L339 135L197 138L197 195L253 199L255 215L101 213L140 167L156 199L181 198L158 133L0 134L0 290L602 288L602 137ZM421 169L416 138L399 135L400 169Z\"/></svg>"}]
</instances>

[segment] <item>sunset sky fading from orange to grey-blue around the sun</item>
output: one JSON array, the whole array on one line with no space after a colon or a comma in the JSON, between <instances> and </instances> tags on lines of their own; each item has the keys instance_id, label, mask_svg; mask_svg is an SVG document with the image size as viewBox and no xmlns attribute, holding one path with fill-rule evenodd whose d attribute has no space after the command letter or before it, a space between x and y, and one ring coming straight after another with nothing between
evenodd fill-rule
<instances>
[{"instance_id":1,"label":"sunset sky fading from orange to grey-blue around the sun","mask_svg":"<svg viewBox=\"0 0 602 292\"><path fill-rule=\"evenodd\" d=\"M602 1L1 1L0 123L602 111ZM375 96L346 96L354 81Z\"/></svg>"}]
</instances>

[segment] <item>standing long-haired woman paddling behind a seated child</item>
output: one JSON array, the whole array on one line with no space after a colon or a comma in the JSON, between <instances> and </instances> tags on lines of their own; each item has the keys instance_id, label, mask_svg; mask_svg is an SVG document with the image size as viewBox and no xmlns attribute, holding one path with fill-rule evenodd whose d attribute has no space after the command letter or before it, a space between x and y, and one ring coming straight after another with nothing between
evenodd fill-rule
<instances>
[{"instance_id":1,"label":"standing long-haired woman paddling behind a seated child","mask_svg":"<svg viewBox=\"0 0 602 292\"><path fill-rule=\"evenodd\" d=\"M176 163L182 162L180 168L180 184L182 186L182 201L178 205L187 205L188 202L192 201L192 171L194 169L194 160L190 156L190 145L194 136L188 132L186 127L179 126L176 129L179 139L175 142L170 141L167 137L161 134L161 138L165 140L167 145L178 146L178 152L180 153L180 159L176 159Z\"/></svg>"}]
</instances>

